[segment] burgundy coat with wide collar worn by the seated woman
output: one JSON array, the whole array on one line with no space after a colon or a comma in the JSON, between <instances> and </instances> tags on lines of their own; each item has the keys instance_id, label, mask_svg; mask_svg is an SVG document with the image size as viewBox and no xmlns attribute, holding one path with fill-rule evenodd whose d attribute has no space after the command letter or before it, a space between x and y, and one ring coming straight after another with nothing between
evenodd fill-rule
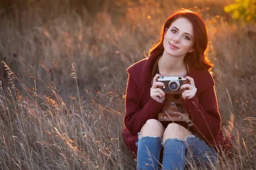
<instances>
[{"instance_id":1,"label":"burgundy coat with wide collar worn by the seated woman","mask_svg":"<svg viewBox=\"0 0 256 170\"><path fill-rule=\"evenodd\" d=\"M137 142L141 128L148 119L156 119L165 102L155 101L150 96L152 67L161 54L154 52L150 57L140 60L127 69L129 74L125 98L125 129L122 137L130 148L134 158L137 157ZM189 63L188 63L189 64ZM194 79L197 94L191 99L183 100L183 105L191 116L193 125L189 130L203 139L208 145L220 149L227 145L221 131L221 116L214 90L214 80L207 70L198 70L189 64L189 76ZM195 105L197 107L195 107ZM198 109L199 108L199 109ZM163 122L167 127L170 122ZM185 122L175 122L188 128Z\"/></svg>"}]
</instances>

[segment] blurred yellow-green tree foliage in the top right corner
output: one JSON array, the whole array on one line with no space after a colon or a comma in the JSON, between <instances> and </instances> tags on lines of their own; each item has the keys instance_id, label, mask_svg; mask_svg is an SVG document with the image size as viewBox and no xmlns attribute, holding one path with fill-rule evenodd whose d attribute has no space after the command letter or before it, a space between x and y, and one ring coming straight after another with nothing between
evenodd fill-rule
<instances>
[{"instance_id":1,"label":"blurred yellow-green tree foliage in the top right corner","mask_svg":"<svg viewBox=\"0 0 256 170\"><path fill-rule=\"evenodd\" d=\"M236 3L224 7L226 13L232 13L233 19L242 19L246 23L256 21L256 0L235 1Z\"/></svg>"}]
</instances>

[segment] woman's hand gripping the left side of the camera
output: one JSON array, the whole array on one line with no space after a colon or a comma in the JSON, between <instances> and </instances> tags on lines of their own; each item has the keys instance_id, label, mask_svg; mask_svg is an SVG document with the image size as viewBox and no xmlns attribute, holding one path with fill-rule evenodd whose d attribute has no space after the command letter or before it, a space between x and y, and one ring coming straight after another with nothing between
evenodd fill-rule
<instances>
[{"instance_id":1,"label":"woman's hand gripping the left side of the camera","mask_svg":"<svg viewBox=\"0 0 256 170\"><path fill-rule=\"evenodd\" d=\"M150 88L150 96L155 101L163 103L164 100L166 99L166 95L165 95L165 93L163 92L163 90L161 88L157 88L157 87L158 86L166 86L166 84L164 84L163 82L158 82L157 81L157 78L160 75L161 74L156 74L155 77L153 78L153 85Z\"/></svg>"}]
</instances>

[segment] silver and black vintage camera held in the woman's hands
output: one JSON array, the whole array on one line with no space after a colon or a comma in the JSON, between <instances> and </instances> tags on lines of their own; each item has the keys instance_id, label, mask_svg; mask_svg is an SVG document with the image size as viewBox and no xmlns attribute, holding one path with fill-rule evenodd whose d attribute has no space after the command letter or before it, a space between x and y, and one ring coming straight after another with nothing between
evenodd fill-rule
<instances>
[{"instance_id":1,"label":"silver and black vintage camera held in the woman's hands","mask_svg":"<svg viewBox=\"0 0 256 170\"><path fill-rule=\"evenodd\" d=\"M182 94L184 90L179 90L181 85L189 84L189 80L185 79L183 76L171 77L171 76L160 76L157 81L166 84L166 87L162 87L165 94Z\"/></svg>"}]
</instances>

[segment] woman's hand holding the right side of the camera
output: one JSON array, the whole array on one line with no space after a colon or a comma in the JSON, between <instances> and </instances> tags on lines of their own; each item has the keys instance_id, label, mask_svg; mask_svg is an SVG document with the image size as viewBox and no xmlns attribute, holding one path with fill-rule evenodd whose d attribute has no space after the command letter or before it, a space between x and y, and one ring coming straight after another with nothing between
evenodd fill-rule
<instances>
[{"instance_id":1,"label":"woman's hand holding the right side of the camera","mask_svg":"<svg viewBox=\"0 0 256 170\"><path fill-rule=\"evenodd\" d=\"M195 82L192 77L184 76L184 78L188 79L190 84L184 84L184 85L180 86L180 90L182 90L184 88L188 88L188 90L183 91L181 96L182 96L183 100L185 100L186 98L191 99L192 97L195 96L197 88L195 88Z\"/></svg>"}]
</instances>

